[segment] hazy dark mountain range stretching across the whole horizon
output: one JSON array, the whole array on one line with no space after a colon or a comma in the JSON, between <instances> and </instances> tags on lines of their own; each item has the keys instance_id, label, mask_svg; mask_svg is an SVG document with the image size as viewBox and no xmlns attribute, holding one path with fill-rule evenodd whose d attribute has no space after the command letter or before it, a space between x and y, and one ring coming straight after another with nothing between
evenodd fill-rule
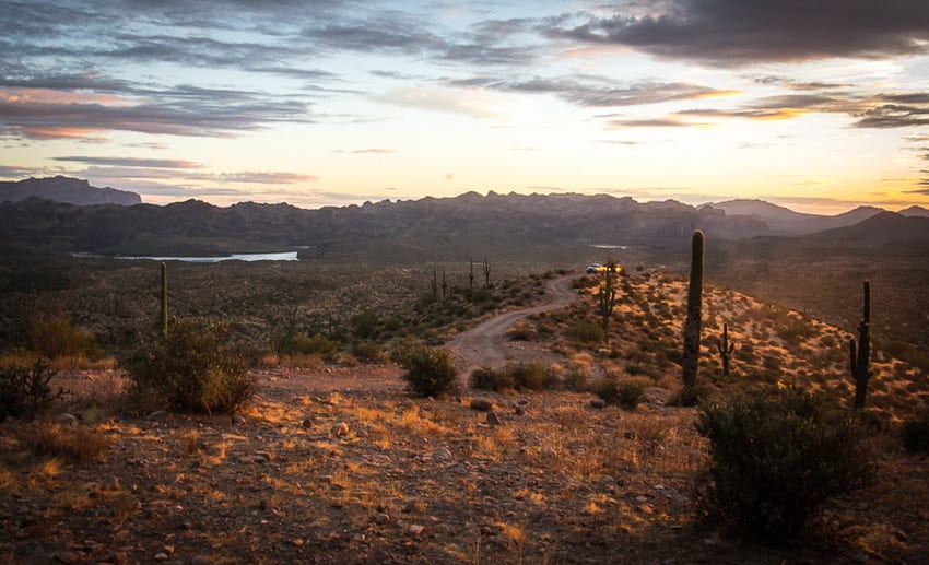
<instances>
[{"instance_id":1,"label":"hazy dark mountain range stretching across the whole horizon","mask_svg":"<svg viewBox=\"0 0 929 565\"><path fill-rule=\"evenodd\" d=\"M901 213L860 207L828 216L762 200L691 207L607 195L495 192L317 210L254 202L220 208L197 200L160 207L140 204L133 192L66 177L2 184L3 193L30 195L0 203L0 248L23 251L204 255L298 247L308 248L304 256L387 252L415 260L560 250L576 257L577 248L596 245L677 248L694 229L716 242L807 235L830 245L921 245L929 236L929 210L919 207Z\"/></svg>"}]
</instances>

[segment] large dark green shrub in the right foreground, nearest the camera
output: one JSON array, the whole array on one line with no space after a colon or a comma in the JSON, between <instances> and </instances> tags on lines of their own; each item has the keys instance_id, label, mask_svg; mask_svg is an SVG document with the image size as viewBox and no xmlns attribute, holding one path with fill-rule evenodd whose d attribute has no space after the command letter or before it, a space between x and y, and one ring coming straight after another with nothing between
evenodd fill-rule
<instances>
[{"instance_id":1,"label":"large dark green shrub in the right foreground, nearest the camera","mask_svg":"<svg viewBox=\"0 0 929 565\"><path fill-rule=\"evenodd\" d=\"M820 397L799 389L705 405L697 431L709 439L705 515L768 540L801 532L825 501L873 473L852 419L830 416Z\"/></svg>"}]
</instances>

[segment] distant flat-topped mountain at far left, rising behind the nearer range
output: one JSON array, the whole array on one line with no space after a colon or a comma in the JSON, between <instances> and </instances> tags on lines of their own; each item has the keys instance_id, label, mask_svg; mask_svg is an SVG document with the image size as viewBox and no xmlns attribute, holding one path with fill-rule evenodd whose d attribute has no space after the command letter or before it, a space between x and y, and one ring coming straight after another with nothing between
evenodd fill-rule
<instances>
[{"instance_id":1,"label":"distant flat-topped mountain at far left, rising behind the nearer range","mask_svg":"<svg viewBox=\"0 0 929 565\"><path fill-rule=\"evenodd\" d=\"M0 201L17 202L32 197L75 205L142 203L142 197L136 192L110 187L93 187L86 180L60 175L50 178L0 181Z\"/></svg>"}]
</instances>

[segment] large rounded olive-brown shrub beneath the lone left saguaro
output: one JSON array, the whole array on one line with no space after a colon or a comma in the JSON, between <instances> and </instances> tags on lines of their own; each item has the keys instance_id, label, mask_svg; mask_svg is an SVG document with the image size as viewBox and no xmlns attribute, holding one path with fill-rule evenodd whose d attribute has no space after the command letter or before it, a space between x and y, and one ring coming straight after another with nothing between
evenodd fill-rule
<instances>
[{"instance_id":1,"label":"large rounded olive-brown shrub beneath the lone left saguaro","mask_svg":"<svg viewBox=\"0 0 929 565\"><path fill-rule=\"evenodd\" d=\"M175 321L167 334L122 360L131 391L181 412L236 411L251 399L255 384L227 338L222 322Z\"/></svg>"}]
</instances>

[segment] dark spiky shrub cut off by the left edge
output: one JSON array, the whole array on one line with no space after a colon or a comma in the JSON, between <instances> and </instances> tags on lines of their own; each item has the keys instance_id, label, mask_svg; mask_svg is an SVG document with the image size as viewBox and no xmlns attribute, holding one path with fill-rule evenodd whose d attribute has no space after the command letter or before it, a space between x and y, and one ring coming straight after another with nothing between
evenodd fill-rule
<instances>
[{"instance_id":1,"label":"dark spiky shrub cut off by the left edge","mask_svg":"<svg viewBox=\"0 0 929 565\"><path fill-rule=\"evenodd\" d=\"M55 373L42 362L32 366L8 364L0 367L0 419L33 417L64 391L50 385Z\"/></svg>"}]
</instances>

